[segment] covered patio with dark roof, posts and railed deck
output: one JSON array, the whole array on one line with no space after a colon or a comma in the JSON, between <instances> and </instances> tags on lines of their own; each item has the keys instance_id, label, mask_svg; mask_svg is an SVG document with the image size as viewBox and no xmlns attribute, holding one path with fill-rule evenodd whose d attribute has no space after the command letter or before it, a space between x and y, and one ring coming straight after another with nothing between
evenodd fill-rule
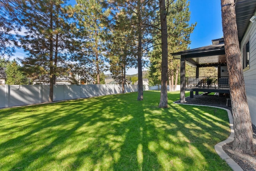
<instances>
[{"instance_id":1,"label":"covered patio with dark roof, posts and railed deck","mask_svg":"<svg viewBox=\"0 0 256 171\"><path fill-rule=\"evenodd\" d=\"M196 95L200 91L230 93L223 38L212 40L212 45L172 55L180 59L180 103L185 103L185 91L190 91L191 98L194 97L194 91ZM186 63L196 68L196 77L185 77ZM199 68L210 66L218 68L218 76L199 77Z\"/></svg>"}]
</instances>

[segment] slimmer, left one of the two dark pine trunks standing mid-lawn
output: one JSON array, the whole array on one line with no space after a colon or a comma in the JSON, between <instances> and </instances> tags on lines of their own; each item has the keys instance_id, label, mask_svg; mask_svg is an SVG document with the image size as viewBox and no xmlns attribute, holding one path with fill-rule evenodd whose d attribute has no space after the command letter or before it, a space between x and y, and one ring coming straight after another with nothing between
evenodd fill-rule
<instances>
[{"instance_id":1,"label":"slimmer, left one of the two dark pine trunks standing mid-lawn","mask_svg":"<svg viewBox=\"0 0 256 171\"><path fill-rule=\"evenodd\" d=\"M143 81L142 81L142 18L141 18L141 3L138 0L138 97L137 100L143 100Z\"/></svg>"}]
</instances>

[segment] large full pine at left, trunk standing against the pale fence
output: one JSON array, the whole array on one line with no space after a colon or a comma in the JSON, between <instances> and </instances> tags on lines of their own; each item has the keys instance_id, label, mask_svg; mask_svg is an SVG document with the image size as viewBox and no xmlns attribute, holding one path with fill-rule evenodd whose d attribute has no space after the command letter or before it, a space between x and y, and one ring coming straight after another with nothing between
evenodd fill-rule
<instances>
[{"instance_id":1,"label":"large full pine at left, trunk standing against the pale fence","mask_svg":"<svg viewBox=\"0 0 256 171\"><path fill-rule=\"evenodd\" d=\"M53 101L56 76L66 72L66 60L74 47L65 4L62 0L27 0L19 6L20 21L27 30L26 36L20 36L28 52L22 64L31 76L48 80L49 101Z\"/></svg>"}]
</instances>

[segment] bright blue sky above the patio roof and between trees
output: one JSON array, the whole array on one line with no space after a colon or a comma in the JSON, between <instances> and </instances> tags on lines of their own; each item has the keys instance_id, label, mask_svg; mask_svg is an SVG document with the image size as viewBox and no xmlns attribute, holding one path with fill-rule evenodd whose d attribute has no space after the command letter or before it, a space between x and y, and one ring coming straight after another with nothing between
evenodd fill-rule
<instances>
[{"instance_id":1,"label":"bright blue sky above the patio roof and between trees","mask_svg":"<svg viewBox=\"0 0 256 171\"><path fill-rule=\"evenodd\" d=\"M74 0L70 0L73 4ZM190 35L190 49L208 46L213 39L222 38L221 8L220 0L190 0L190 23L197 25ZM15 56L24 57L23 50L18 49ZM107 72L109 73L109 72ZM127 70L128 75L137 74L138 70L131 68Z\"/></svg>"}]
</instances>

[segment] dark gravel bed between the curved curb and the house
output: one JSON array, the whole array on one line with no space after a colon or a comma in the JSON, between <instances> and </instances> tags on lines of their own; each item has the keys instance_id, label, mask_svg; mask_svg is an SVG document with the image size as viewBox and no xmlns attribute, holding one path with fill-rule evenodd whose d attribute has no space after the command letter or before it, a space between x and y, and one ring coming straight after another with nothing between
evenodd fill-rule
<instances>
[{"instance_id":1,"label":"dark gravel bed between the curved curb and the house","mask_svg":"<svg viewBox=\"0 0 256 171\"><path fill-rule=\"evenodd\" d=\"M228 96L218 95L194 95L194 98L186 97L187 104L212 105L229 109L226 105ZM252 125L254 145L256 147L256 127ZM232 142L224 145L222 149L232 158L244 171L256 171L256 155L246 155L232 150Z\"/></svg>"}]
</instances>

